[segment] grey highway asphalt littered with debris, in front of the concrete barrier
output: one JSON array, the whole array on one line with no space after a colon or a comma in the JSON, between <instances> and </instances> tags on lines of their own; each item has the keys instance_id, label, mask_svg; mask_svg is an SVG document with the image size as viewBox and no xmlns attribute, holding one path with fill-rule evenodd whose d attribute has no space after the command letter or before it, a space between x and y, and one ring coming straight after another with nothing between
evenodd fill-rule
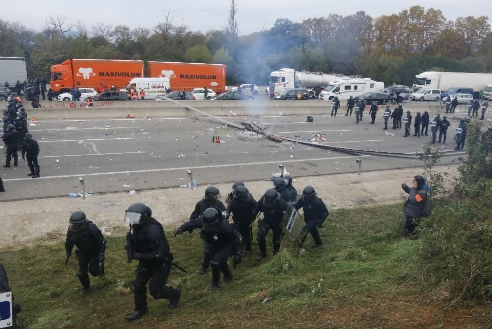
<instances>
[{"instance_id":1,"label":"grey highway asphalt littered with debris, in front of the concrete barrier","mask_svg":"<svg viewBox=\"0 0 492 329\"><path fill-rule=\"evenodd\" d=\"M369 123L368 115L359 124L354 123L354 117L340 112L336 117L329 114L313 117L313 123L306 123L306 116L229 119L236 123L256 121L268 127L269 132L299 140L308 140L319 132L326 134L327 141L323 143L354 149L419 152L421 145L430 140L430 131L428 137L420 138L404 138L404 129L384 131L381 114L377 115L375 124ZM30 127L29 131L40 143L42 177L27 176L29 169L20 157L17 168L0 167L7 190L0 193L0 201L68 197L68 193L81 192L79 177L84 178L87 192L103 193L177 187L190 181L186 170L191 170L198 184L204 185L270 178L278 171L279 163L294 177L356 172L356 158L363 159L363 171L422 166L417 158L357 157L290 142L276 143L266 138L250 140L248 133L238 135L235 129L221 127L209 119L42 120L36 123L39 126ZM455 146L453 127L458 122L451 123L445 150ZM389 126L391 128L391 124ZM210 128L215 133L206 131ZM413 135L413 126L411 128ZM213 136L220 136L224 142L213 143ZM448 156L440 163L456 162L457 158Z\"/></svg>"}]
</instances>

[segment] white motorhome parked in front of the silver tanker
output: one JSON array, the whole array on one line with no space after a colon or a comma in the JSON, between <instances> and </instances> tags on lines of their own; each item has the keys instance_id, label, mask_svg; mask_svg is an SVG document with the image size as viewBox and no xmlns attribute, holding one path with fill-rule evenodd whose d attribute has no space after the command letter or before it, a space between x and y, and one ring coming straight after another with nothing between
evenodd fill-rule
<instances>
[{"instance_id":1,"label":"white motorhome parked in front of the silver tanker","mask_svg":"<svg viewBox=\"0 0 492 329\"><path fill-rule=\"evenodd\" d=\"M355 98L365 93L380 92L383 89L383 82L377 82L369 78L333 80L319 93L319 99L331 100L336 96L339 100L347 100L350 96Z\"/></svg>"}]
</instances>

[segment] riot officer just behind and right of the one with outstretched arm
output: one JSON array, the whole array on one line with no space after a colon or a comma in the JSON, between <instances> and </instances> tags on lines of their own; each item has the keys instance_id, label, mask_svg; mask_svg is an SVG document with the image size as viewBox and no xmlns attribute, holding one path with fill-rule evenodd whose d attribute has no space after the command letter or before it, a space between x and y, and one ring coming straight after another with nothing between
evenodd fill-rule
<instances>
[{"instance_id":1,"label":"riot officer just behind and right of the one with outstretched arm","mask_svg":"<svg viewBox=\"0 0 492 329\"><path fill-rule=\"evenodd\" d=\"M246 254L251 253L252 224L255 220L253 211L256 208L256 204L258 202L250 194L250 191L245 186L238 186L235 195L231 198L225 217L229 220L229 216L232 213L233 226L243 237Z\"/></svg>"}]
</instances>

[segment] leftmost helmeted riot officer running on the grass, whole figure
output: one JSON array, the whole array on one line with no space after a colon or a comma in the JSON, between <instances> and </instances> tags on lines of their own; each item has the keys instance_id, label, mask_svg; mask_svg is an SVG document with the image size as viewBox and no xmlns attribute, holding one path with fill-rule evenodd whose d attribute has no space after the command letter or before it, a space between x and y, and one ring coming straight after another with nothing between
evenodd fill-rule
<instances>
[{"instance_id":1,"label":"leftmost helmeted riot officer running on the grass, whole figure","mask_svg":"<svg viewBox=\"0 0 492 329\"><path fill-rule=\"evenodd\" d=\"M75 255L79 260L79 277L83 289L81 295L86 294L90 290L90 280L87 272L94 277L104 275L104 252L106 250L106 239L96 226L87 219L82 211L74 211L70 215L70 226L67 231L67 239L65 240L65 251L67 253L67 261L72 254L73 246L75 245Z\"/></svg>"}]
</instances>

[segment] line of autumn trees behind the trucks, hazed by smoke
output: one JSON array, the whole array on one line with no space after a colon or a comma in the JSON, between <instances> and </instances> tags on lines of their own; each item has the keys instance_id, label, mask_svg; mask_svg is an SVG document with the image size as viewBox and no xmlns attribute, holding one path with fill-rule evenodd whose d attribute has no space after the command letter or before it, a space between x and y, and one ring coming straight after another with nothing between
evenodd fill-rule
<instances>
[{"instance_id":1,"label":"line of autumn trees behind the trucks, hazed by smoke","mask_svg":"<svg viewBox=\"0 0 492 329\"><path fill-rule=\"evenodd\" d=\"M438 9L411 6L391 15L329 14L300 23L277 19L270 29L239 35L238 6L225 26L192 31L172 13L154 27L69 22L50 16L41 31L0 20L0 56L25 57L29 77L71 58L221 63L227 83L266 84L271 71L363 75L410 85L425 70L492 71L492 31L486 16L447 20Z\"/></svg>"}]
</instances>

